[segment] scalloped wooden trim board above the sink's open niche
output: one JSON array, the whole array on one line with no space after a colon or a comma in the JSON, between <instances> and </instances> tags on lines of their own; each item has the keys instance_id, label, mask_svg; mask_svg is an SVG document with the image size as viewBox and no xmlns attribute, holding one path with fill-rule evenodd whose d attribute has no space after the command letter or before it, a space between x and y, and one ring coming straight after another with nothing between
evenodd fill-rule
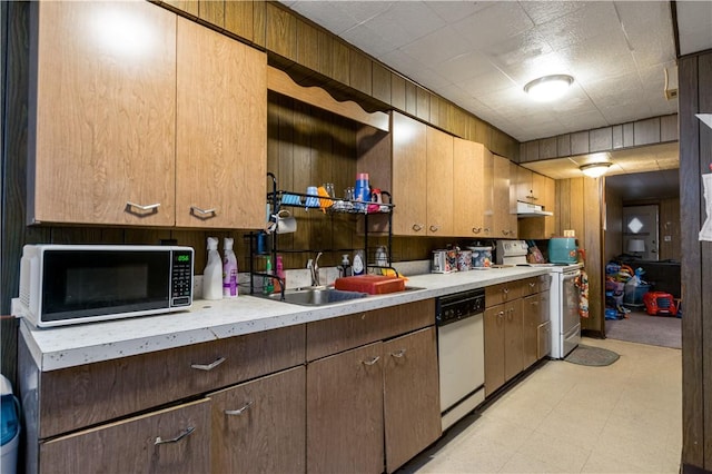
<instances>
[{"instance_id":1,"label":"scalloped wooden trim board above the sink's open niche","mask_svg":"<svg viewBox=\"0 0 712 474\"><path fill-rule=\"evenodd\" d=\"M349 118L359 124L369 125L383 131L389 131L389 119L386 112L367 112L350 100L339 102L318 87L304 87L296 83L286 72L267 67L267 89L300 100L314 107Z\"/></svg>"}]
</instances>

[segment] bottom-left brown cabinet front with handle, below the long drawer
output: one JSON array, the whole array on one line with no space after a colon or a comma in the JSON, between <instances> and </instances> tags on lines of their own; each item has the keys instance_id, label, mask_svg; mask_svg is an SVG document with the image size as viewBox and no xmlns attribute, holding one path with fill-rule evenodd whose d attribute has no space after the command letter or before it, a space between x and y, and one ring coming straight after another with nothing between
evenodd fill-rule
<instances>
[{"instance_id":1,"label":"bottom-left brown cabinet front with handle, below the long drawer","mask_svg":"<svg viewBox=\"0 0 712 474\"><path fill-rule=\"evenodd\" d=\"M210 401L101 425L40 444L40 473L205 473Z\"/></svg>"}]
</instances>

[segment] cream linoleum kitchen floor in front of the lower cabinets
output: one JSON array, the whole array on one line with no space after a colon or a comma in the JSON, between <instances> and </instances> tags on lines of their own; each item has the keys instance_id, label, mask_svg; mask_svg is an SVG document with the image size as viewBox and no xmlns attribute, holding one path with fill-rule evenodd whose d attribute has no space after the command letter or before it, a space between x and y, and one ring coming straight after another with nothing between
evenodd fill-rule
<instances>
[{"instance_id":1,"label":"cream linoleum kitchen floor in front of the lower cabinets","mask_svg":"<svg viewBox=\"0 0 712 474\"><path fill-rule=\"evenodd\" d=\"M670 473L682 450L682 352L614 339L605 367L548 361L459 421L404 473Z\"/></svg>"}]
</instances>

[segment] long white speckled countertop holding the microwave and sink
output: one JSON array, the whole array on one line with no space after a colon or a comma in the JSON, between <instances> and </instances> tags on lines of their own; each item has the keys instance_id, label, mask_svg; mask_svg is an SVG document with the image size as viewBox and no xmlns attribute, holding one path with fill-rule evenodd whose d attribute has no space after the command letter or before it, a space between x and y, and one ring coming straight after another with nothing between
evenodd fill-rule
<instances>
[{"instance_id":1,"label":"long white speckled countertop holding the microwave and sink","mask_svg":"<svg viewBox=\"0 0 712 474\"><path fill-rule=\"evenodd\" d=\"M48 372L436 298L546 273L545 267L507 267L417 275L408 278L407 286L423 289L316 307L248 295L199 299L185 312L112 322L38 329L22 320L20 333L40 371Z\"/></svg>"}]
</instances>

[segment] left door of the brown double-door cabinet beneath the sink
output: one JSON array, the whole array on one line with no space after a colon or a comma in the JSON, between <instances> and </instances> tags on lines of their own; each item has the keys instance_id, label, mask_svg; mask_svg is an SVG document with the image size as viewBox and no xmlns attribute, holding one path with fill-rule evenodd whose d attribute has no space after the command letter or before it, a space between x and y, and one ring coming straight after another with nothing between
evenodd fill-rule
<instances>
[{"instance_id":1,"label":"left door of the brown double-door cabinet beneath the sink","mask_svg":"<svg viewBox=\"0 0 712 474\"><path fill-rule=\"evenodd\" d=\"M384 470L383 344L307 366L307 472Z\"/></svg>"}]
</instances>

